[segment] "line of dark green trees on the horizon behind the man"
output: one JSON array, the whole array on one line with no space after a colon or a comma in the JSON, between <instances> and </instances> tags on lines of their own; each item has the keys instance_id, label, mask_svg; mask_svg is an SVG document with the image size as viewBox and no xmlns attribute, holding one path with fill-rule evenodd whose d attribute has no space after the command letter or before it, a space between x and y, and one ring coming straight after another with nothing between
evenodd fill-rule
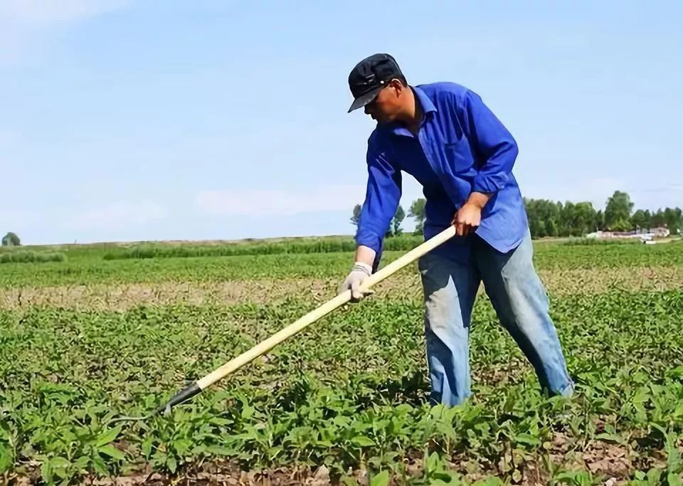
<instances>
[{"instance_id":1,"label":"line of dark green trees on the horizon behind the man","mask_svg":"<svg viewBox=\"0 0 683 486\"><path fill-rule=\"evenodd\" d=\"M526 216L532 238L546 236L586 236L594 231L632 231L650 230L666 227L672 234L683 230L683 211L681 208L660 208L657 211L637 209L633 211L628 193L615 191L605 202L605 208L596 210L590 202L551 201L549 199L524 199ZM354 207L351 223L359 223L361 204ZM408 209L409 218L415 221L413 234L423 234L425 222L425 199L415 199ZM398 205L387 238L403 233L401 223L406 212Z\"/></svg>"}]
</instances>

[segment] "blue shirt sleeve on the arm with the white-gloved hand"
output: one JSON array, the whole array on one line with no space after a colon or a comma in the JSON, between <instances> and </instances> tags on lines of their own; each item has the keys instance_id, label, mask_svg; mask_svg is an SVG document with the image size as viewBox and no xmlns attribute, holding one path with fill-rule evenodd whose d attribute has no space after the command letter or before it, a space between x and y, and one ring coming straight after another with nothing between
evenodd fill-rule
<instances>
[{"instance_id":1,"label":"blue shirt sleeve on the arm with the white-gloved hand","mask_svg":"<svg viewBox=\"0 0 683 486\"><path fill-rule=\"evenodd\" d=\"M375 269L381 259L384 235L401 200L401 171L393 167L386 153L376 144L369 144L365 201L356 231L356 244L375 250Z\"/></svg>"}]
</instances>

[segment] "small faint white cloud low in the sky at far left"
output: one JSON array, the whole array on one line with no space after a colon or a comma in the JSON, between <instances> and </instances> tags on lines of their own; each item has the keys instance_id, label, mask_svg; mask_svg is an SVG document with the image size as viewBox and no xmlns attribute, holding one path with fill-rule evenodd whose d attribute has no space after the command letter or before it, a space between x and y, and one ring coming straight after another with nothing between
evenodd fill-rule
<instances>
[{"instance_id":1,"label":"small faint white cloud low in the sky at far left","mask_svg":"<svg viewBox=\"0 0 683 486\"><path fill-rule=\"evenodd\" d=\"M76 228L129 228L164 219L168 211L153 201L120 201L75 216Z\"/></svg>"}]
</instances>

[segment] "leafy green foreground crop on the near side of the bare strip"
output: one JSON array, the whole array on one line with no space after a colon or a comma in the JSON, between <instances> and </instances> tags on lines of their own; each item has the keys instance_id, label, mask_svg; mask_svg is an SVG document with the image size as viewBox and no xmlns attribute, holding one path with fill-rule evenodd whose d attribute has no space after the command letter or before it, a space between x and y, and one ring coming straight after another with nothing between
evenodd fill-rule
<instances>
[{"instance_id":1,"label":"leafy green foreground crop on the near side of the bare strip","mask_svg":"<svg viewBox=\"0 0 683 486\"><path fill-rule=\"evenodd\" d=\"M680 291L554 300L578 384L570 401L541 396L480 299L471 337L475 395L462 408L430 408L421 303L370 300L314 324L170 417L107 425L118 414L152 411L186 379L308 310L293 300L0 312L0 470L59 481L146 464L181 474L230 460L245 470L324 464L334 477L365 468L381 479L407 474L412 461L420 466L415 484L519 480L531 470L588 482L683 472ZM618 472L572 462L591 448L618 450L628 461Z\"/></svg>"}]
</instances>

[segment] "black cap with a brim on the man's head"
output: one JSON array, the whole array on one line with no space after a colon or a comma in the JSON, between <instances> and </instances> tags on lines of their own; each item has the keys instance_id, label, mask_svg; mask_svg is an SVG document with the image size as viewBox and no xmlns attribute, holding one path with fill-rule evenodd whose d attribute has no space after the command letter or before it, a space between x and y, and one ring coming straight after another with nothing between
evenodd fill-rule
<instances>
[{"instance_id":1,"label":"black cap with a brim on the man's head","mask_svg":"<svg viewBox=\"0 0 683 486\"><path fill-rule=\"evenodd\" d=\"M373 54L361 60L349 73L349 88L354 102L347 113L367 105L389 80L402 76L396 59L388 54Z\"/></svg>"}]
</instances>

